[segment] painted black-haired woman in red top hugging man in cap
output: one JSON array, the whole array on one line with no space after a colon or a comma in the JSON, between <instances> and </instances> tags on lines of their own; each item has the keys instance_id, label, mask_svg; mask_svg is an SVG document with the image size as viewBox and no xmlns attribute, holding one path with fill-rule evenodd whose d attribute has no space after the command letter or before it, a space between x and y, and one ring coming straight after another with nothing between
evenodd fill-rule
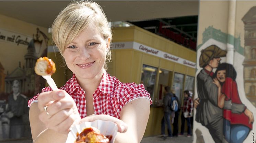
<instances>
[{"instance_id":1,"label":"painted black-haired woman in red top hugging man in cap","mask_svg":"<svg viewBox=\"0 0 256 143\"><path fill-rule=\"evenodd\" d=\"M218 86L218 94L221 95L219 107L223 109L225 139L229 143L242 143L253 128L254 117L240 100L236 71L232 65L221 63L213 77L213 83Z\"/></svg>"}]
</instances>

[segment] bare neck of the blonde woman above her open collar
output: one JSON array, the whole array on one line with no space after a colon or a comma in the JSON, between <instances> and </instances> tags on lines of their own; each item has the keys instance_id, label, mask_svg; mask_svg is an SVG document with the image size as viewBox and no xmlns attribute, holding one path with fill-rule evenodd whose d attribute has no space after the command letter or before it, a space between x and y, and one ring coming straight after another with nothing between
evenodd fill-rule
<instances>
[{"instance_id":1,"label":"bare neck of the blonde woman above her open collar","mask_svg":"<svg viewBox=\"0 0 256 143\"><path fill-rule=\"evenodd\" d=\"M102 69L96 76L89 79L82 79L79 77L76 78L85 93L94 93L97 87L100 85L103 73L104 69Z\"/></svg>"}]
</instances>

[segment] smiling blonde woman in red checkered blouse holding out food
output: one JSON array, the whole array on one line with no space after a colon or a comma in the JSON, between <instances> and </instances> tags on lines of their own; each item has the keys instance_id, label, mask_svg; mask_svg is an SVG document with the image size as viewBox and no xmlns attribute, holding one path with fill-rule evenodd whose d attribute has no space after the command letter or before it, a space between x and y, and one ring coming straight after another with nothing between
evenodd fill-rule
<instances>
[{"instance_id":1,"label":"smiling blonde woman in red checkered blouse holding out food","mask_svg":"<svg viewBox=\"0 0 256 143\"><path fill-rule=\"evenodd\" d=\"M115 142L140 142L150 94L106 72L112 32L101 6L71 2L54 20L52 38L73 76L60 90L46 87L28 101L33 142L66 142L72 126L97 119L117 125Z\"/></svg>"}]
</instances>

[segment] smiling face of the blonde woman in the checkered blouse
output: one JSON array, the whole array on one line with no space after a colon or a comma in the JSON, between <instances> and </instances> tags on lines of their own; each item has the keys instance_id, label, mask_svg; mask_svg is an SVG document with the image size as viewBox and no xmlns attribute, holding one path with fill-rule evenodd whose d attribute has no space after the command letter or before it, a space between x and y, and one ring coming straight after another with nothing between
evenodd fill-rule
<instances>
[{"instance_id":1,"label":"smiling face of the blonde woman in the checkered blouse","mask_svg":"<svg viewBox=\"0 0 256 143\"><path fill-rule=\"evenodd\" d=\"M93 27L93 23L84 29L77 38L68 44L63 57L68 68L78 79L90 79L102 76L109 40Z\"/></svg>"}]
</instances>

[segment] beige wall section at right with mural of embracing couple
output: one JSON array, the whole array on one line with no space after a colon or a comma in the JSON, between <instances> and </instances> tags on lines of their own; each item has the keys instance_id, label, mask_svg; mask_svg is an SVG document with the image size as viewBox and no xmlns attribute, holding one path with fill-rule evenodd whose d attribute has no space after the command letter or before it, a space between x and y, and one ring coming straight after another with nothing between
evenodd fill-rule
<instances>
[{"instance_id":1,"label":"beige wall section at right with mural of embracing couple","mask_svg":"<svg viewBox=\"0 0 256 143\"><path fill-rule=\"evenodd\" d=\"M193 142L252 142L256 2L199 5Z\"/></svg>"}]
</instances>

